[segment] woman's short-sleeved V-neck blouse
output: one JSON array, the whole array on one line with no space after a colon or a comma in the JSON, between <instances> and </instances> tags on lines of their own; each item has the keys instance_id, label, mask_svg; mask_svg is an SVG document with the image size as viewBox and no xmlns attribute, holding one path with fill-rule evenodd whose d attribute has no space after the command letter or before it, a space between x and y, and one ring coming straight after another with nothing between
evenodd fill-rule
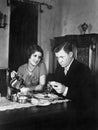
<instances>
[{"instance_id":1,"label":"woman's short-sleeved V-neck blouse","mask_svg":"<svg viewBox=\"0 0 98 130\"><path fill-rule=\"evenodd\" d=\"M31 73L28 71L27 63L20 66L17 73L24 80L26 87L32 87L39 84L40 76L46 75L47 71L45 64L41 62Z\"/></svg>"}]
</instances>

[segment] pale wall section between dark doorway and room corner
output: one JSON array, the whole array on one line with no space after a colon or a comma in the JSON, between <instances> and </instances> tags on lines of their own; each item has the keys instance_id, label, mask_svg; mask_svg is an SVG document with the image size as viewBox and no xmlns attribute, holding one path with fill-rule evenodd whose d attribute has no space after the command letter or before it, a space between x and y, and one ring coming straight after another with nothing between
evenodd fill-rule
<instances>
[{"instance_id":1,"label":"pale wall section between dark doorway and room corner","mask_svg":"<svg viewBox=\"0 0 98 130\"><path fill-rule=\"evenodd\" d=\"M48 3L52 5L52 9L47 9L46 6L42 6L43 13L40 13L40 27L39 27L39 35L40 40L39 44L41 44L44 55L45 55L45 63L47 66L48 72L52 72L53 68L53 54L51 51L51 41L54 38L54 35L59 36L61 33L60 19L61 12L59 11L61 8L58 0L50 1ZM58 17L59 16L59 17Z\"/></svg>"}]
</instances>

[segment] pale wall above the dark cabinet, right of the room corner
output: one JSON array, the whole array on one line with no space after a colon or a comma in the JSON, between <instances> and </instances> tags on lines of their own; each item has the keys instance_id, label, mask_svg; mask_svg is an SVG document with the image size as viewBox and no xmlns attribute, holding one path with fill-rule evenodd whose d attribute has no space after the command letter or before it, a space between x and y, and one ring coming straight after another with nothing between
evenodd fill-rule
<instances>
[{"instance_id":1,"label":"pale wall above the dark cabinet, right of the room corner","mask_svg":"<svg viewBox=\"0 0 98 130\"><path fill-rule=\"evenodd\" d=\"M78 26L91 24L90 33L98 32L98 0L62 0L62 34L79 34Z\"/></svg>"}]
</instances>

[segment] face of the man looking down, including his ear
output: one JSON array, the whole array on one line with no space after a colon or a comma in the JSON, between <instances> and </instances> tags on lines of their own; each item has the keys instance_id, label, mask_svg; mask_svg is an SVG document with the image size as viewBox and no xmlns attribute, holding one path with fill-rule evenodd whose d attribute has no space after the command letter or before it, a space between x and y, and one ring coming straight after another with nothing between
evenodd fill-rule
<instances>
[{"instance_id":1,"label":"face of the man looking down, including his ear","mask_svg":"<svg viewBox=\"0 0 98 130\"><path fill-rule=\"evenodd\" d=\"M59 52L55 53L55 56L62 67L67 67L73 58L73 52L66 53L61 49Z\"/></svg>"}]
</instances>

